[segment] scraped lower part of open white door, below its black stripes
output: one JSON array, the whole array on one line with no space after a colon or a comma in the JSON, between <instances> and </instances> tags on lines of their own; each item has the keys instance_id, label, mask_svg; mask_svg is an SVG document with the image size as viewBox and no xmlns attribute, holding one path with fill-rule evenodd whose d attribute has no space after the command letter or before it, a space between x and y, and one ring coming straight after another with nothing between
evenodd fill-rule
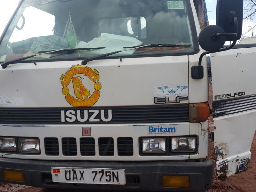
<instances>
[{"instance_id":1,"label":"scraped lower part of open white door, below its black stripes","mask_svg":"<svg viewBox=\"0 0 256 192\"><path fill-rule=\"evenodd\" d=\"M225 179L248 169L255 119L256 111L214 119L216 128L214 148L218 179Z\"/></svg>"}]
</instances>

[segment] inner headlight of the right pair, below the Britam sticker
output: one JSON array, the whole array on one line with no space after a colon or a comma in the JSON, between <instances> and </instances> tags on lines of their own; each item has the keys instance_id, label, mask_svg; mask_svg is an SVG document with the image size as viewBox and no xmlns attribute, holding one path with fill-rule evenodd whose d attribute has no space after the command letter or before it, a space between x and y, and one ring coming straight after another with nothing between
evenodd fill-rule
<instances>
[{"instance_id":1,"label":"inner headlight of the right pair, below the Britam sticker","mask_svg":"<svg viewBox=\"0 0 256 192\"><path fill-rule=\"evenodd\" d=\"M166 139L142 139L142 153L166 153Z\"/></svg>"}]
</instances>

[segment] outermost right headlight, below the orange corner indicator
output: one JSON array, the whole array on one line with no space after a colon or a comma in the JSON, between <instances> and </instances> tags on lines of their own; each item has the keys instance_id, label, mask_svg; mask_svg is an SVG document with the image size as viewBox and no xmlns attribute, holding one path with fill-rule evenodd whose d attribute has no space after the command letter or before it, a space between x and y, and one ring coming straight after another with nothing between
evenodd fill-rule
<instances>
[{"instance_id":1,"label":"outermost right headlight, below the orange corner indicator","mask_svg":"<svg viewBox=\"0 0 256 192\"><path fill-rule=\"evenodd\" d=\"M172 137L172 152L196 152L196 137Z\"/></svg>"}]
</instances>

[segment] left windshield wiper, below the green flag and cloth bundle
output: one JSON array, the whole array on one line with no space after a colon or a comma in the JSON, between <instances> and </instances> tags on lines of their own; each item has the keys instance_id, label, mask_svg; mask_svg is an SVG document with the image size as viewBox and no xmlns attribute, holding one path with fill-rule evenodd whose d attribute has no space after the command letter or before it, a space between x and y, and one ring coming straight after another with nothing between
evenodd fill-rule
<instances>
[{"instance_id":1,"label":"left windshield wiper, below the green flag and cloth bundle","mask_svg":"<svg viewBox=\"0 0 256 192\"><path fill-rule=\"evenodd\" d=\"M9 61L5 61L3 63L1 63L1 66L3 69L5 69L8 65L12 64L12 63L17 63L19 61L23 61L25 59L31 58L31 57L35 57L37 55L43 55L43 54L47 54L47 53L71 53L74 51L79 51L79 50L88 50L88 49L105 49L106 47L95 47L95 48L77 48L77 49L58 49L58 50L53 50L53 51L47 51L47 52L42 52L42 53L38 53L38 54L34 54L34 55L30 55L27 57L21 57L18 59L13 59L13 60L9 60ZM33 62L35 63L35 62Z\"/></svg>"}]
</instances>

